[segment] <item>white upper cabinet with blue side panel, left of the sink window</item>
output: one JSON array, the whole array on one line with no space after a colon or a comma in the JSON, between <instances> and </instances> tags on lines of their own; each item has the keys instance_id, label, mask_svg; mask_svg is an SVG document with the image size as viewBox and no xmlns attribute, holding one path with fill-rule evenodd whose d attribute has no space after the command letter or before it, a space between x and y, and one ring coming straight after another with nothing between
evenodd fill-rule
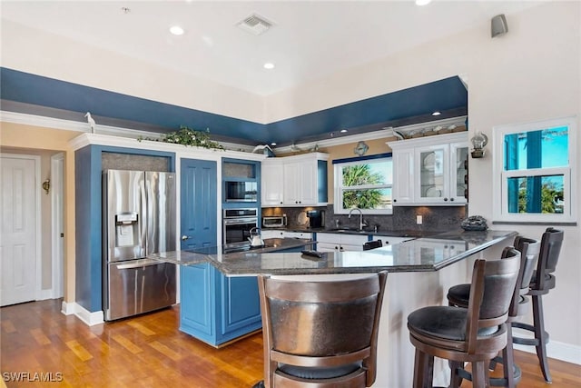
<instances>
[{"instance_id":1,"label":"white upper cabinet with blue side panel, left of the sink window","mask_svg":"<svg viewBox=\"0 0 581 388\"><path fill-rule=\"evenodd\" d=\"M328 159L329 154L310 153L262 161L261 205L327 204Z\"/></svg>"}]
</instances>

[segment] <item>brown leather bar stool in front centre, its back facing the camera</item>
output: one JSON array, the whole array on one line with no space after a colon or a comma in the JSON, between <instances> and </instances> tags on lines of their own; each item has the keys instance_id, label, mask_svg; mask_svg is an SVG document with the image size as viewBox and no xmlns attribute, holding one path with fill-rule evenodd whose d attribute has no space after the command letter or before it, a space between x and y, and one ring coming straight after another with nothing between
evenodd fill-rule
<instances>
[{"instance_id":1,"label":"brown leather bar stool in front centre, its back facing the camera","mask_svg":"<svg viewBox=\"0 0 581 388\"><path fill-rule=\"evenodd\" d=\"M259 276L266 388L363 388L375 382L387 273L355 279Z\"/></svg>"}]
</instances>

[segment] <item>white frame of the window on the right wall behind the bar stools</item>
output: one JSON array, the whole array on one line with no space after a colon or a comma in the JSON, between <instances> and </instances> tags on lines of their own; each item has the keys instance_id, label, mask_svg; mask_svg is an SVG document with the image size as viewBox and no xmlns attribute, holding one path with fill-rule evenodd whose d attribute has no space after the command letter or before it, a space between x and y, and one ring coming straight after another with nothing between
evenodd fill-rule
<instances>
[{"instance_id":1,"label":"white frame of the window on the right wall behind the bar stools","mask_svg":"<svg viewBox=\"0 0 581 388\"><path fill-rule=\"evenodd\" d=\"M547 119L530 123L503 124L494 126L493 135L493 193L500 193L500 201L493 200L493 222L498 224L576 224L577 204L573 198L576 188L576 116ZM566 126L568 135L568 165L562 167L524 168L505 170L504 140L507 134L526 133ZM562 214L518 214L508 213L508 178L527 176L563 175ZM496 197L496 195L495 195Z\"/></svg>"}]
</instances>

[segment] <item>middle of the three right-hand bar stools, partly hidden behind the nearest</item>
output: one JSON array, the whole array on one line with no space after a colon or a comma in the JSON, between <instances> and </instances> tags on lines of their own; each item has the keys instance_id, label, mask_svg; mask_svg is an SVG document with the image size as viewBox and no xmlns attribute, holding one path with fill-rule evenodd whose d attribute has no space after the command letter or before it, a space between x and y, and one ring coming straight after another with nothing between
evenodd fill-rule
<instances>
[{"instance_id":1,"label":"middle of the three right-hand bar stools, partly hidden behind the nearest","mask_svg":"<svg viewBox=\"0 0 581 388\"><path fill-rule=\"evenodd\" d=\"M502 350L502 357L495 357L490 365L490 369L495 369L496 363L503 364L504 375L502 378L490 378L490 385L507 386L513 388L520 381L521 373L517 364L514 363L514 352L512 347L512 324L518 316L524 313L528 298L528 292L535 265L537 264L540 251L540 242L522 236L517 236L514 242L515 248L520 252L520 269L517 277L517 287L513 293L507 318L507 346ZM448 290L448 303L451 306L468 308L470 294L470 284L458 284ZM469 381L472 380L471 373L460 368L458 375Z\"/></svg>"}]
</instances>

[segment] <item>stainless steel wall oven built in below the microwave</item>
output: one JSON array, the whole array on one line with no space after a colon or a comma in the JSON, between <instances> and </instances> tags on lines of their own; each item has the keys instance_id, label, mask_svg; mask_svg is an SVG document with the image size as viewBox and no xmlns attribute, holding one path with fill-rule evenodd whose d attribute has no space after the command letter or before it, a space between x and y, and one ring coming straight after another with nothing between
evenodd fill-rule
<instances>
[{"instance_id":1,"label":"stainless steel wall oven built in below the microwave","mask_svg":"<svg viewBox=\"0 0 581 388\"><path fill-rule=\"evenodd\" d=\"M222 224L225 248L248 245L251 229L259 227L258 208L224 209Z\"/></svg>"}]
</instances>

